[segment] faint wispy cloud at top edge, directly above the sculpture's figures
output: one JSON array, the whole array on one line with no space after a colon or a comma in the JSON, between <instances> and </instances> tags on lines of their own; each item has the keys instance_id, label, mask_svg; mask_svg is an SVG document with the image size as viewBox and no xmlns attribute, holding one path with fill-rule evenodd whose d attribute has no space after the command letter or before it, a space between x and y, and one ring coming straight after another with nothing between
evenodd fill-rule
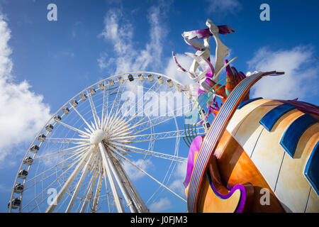
<instances>
[{"instance_id":1,"label":"faint wispy cloud at top edge, directly above the sculpture's figures","mask_svg":"<svg viewBox=\"0 0 319 227\"><path fill-rule=\"evenodd\" d=\"M235 13L242 5L238 0L206 0L208 13Z\"/></svg>"}]
</instances>

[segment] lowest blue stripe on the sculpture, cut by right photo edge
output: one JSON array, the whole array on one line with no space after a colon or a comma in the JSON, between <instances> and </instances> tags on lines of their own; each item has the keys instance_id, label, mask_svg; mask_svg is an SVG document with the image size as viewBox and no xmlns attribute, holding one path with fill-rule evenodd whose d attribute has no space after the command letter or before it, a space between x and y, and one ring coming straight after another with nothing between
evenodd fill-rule
<instances>
[{"instance_id":1,"label":"lowest blue stripe on the sculpture, cut by right photo edge","mask_svg":"<svg viewBox=\"0 0 319 227\"><path fill-rule=\"evenodd\" d=\"M313 148L313 151L308 159L304 174L317 195L319 195L319 141L315 145L315 148Z\"/></svg>"}]
</instances>

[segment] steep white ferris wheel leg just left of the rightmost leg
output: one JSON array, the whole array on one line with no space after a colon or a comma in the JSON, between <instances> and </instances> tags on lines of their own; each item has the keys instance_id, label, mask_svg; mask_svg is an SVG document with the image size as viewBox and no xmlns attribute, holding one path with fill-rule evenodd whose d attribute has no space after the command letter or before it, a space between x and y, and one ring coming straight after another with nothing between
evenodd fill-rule
<instances>
[{"instance_id":1,"label":"steep white ferris wheel leg just left of the rightmost leg","mask_svg":"<svg viewBox=\"0 0 319 227\"><path fill-rule=\"evenodd\" d=\"M124 208L123 208L123 204L121 201L121 197L118 195L118 190L116 189L116 184L113 180L113 176L111 174L111 168L108 165L108 153L106 151L106 148L104 147L104 145L102 143L99 143L99 148L101 151L101 157L102 157L102 162L103 162L103 169L104 172L106 173L106 175L108 177L108 181L110 182L111 185L111 190L113 193L113 199L114 202L116 204L116 209L118 210L118 213L124 213Z\"/></svg>"}]
</instances>

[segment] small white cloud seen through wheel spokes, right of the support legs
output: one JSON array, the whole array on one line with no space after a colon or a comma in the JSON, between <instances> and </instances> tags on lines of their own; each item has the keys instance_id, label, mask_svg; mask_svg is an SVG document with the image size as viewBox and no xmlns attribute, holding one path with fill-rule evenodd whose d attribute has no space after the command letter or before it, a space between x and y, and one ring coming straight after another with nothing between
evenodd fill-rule
<instances>
[{"instance_id":1,"label":"small white cloud seen through wheel spokes, right of the support legs","mask_svg":"<svg viewBox=\"0 0 319 227\"><path fill-rule=\"evenodd\" d=\"M150 170L150 168L153 167L153 163L149 159L139 159L137 161L133 161L133 164L137 165L145 172L147 172L147 170ZM124 170L128 174L128 177L130 177L130 179L133 181L146 176L142 171L138 170L137 167L131 165L128 162L124 163Z\"/></svg>"}]
</instances>

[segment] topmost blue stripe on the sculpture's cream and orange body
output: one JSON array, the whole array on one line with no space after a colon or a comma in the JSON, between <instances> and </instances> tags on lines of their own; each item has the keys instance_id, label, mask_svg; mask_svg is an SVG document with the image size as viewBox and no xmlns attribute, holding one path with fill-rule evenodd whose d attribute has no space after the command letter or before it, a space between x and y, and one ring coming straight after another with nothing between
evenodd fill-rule
<instances>
[{"instance_id":1,"label":"topmost blue stripe on the sculpture's cream and orange body","mask_svg":"<svg viewBox=\"0 0 319 227\"><path fill-rule=\"evenodd\" d=\"M289 111L296 109L296 106L291 104L282 104L280 106L276 106L274 109L269 111L260 121L259 123L267 129L267 131L272 131L272 127L276 121L279 120L281 116L288 113Z\"/></svg>"}]
</instances>

